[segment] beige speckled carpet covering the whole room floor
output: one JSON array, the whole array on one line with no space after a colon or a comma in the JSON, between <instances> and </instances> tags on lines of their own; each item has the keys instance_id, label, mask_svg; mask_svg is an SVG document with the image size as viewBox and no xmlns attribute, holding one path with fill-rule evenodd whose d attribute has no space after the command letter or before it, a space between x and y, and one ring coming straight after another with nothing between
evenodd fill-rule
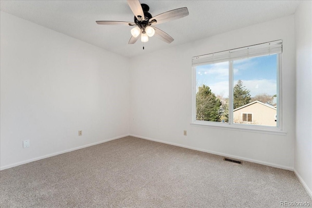
<instances>
[{"instance_id":1,"label":"beige speckled carpet covering the whole room floor","mask_svg":"<svg viewBox=\"0 0 312 208\"><path fill-rule=\"evenodd\" d=\"M0 171L0 207L280 208L308 202L289 170L135 137Z\"/></svg>"}]
</instances>

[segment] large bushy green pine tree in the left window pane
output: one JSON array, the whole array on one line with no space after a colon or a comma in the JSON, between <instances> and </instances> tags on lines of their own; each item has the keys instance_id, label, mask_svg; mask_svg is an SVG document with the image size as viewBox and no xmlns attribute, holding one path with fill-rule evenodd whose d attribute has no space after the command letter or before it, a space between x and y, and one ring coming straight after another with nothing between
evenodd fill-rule
<instances>
[{"instance_id":1,"label":"large bushy green pine tree in the left window pane","mask_svg":"<svg viewBox=\"0 0 312 208\"><path fill-rule=\"evenodd\" d=\"M221 101L211 92L208 86L198 87L196 93L196 120L220 121L218 110L221 104Z\"/></svg>"}]
</instances>

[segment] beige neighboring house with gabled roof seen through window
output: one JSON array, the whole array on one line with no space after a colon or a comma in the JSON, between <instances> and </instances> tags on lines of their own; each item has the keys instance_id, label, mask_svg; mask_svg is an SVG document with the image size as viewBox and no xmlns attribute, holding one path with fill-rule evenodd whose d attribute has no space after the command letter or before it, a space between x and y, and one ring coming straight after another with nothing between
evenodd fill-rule
<instances>
[{"instance_id":1,"label":"beige neighboring house with gabled roof seen through window","mask_svg":"<svg viewBox=\"0 0 312 208\"><path fill-rule=\"evenodd\" d=\"M276 108L256 100L234 109L234 123L276 126Z\"/></svg>"}]
</instances>

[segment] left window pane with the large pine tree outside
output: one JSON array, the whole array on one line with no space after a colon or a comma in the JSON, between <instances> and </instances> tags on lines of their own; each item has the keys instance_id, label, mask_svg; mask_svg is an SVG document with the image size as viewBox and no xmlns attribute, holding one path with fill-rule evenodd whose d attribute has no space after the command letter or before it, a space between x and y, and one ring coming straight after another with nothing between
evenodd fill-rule
<instances>
[{"instance_id":1,"label":"left window pane with the large pine tree outside","mask_svg":"<svg viewBox=\"0 0 312 208\"><path fill-rule=\"evenodd\" d=\"M229 62L196 66L196 120L228 122Z\"/></svg>"}]
</instances>

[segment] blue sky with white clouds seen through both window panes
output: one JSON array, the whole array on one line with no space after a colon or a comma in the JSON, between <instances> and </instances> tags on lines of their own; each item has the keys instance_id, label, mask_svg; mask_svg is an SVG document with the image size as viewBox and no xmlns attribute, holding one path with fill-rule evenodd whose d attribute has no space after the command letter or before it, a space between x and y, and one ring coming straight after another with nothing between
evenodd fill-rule
<instances>
[{"instance_id":1,"label":"blue sky with white clouds seen through both window panes","mask_svg":"<svg viewBox=\"0 0 312 208\"><path fill-rule=\"evenodd\" d=\"M277 55L245 58L234 61L234 85L242 80L243 85L255 96L260 93L276 94ZM197 86L208 85L215 95L228 97L229 62L196 67Z\"/></svg>"}]
</instances>

